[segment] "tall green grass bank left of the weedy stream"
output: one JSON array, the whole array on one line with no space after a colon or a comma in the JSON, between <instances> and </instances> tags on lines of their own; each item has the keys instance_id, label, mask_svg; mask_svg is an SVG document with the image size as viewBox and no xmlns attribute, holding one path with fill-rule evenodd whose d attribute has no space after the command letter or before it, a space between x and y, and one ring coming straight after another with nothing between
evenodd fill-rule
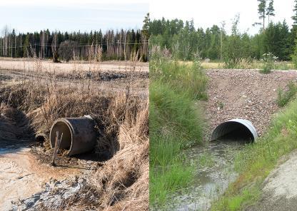
<instances>
[{"instance_id":1,"label":"tall green grass bank left of the weedy stream","mask_svg":"<svg viewBox=\"0 0 297 211\"><path fill-rule=\"evenodd\" d=\"M193 103L206 99L206 81L199 63L151 59L150 205L162 206L169 192L191 181L193 166L181 150L201 141L203 118Z\"/></svg>"}]
</instances>

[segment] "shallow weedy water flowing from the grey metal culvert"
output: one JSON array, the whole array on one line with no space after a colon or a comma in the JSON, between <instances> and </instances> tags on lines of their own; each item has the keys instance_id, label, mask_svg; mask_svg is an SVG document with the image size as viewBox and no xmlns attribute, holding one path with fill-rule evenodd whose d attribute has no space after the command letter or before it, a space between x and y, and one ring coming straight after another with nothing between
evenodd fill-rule
<instances>
[{"instance_id":1,"label":"shallow weedy water flowing from the grey metal culvert","mask_svg":"<svg viewBox=\"0 0 297 211\"><path fill-rule=\"evenodd\" d=\"M185 150L186 160L196 167L195 175L189 187L169 196L165 210L208 210L236 180L234 158L243 146L241 141L216 140Z\"/></svg>"}]
</instances>

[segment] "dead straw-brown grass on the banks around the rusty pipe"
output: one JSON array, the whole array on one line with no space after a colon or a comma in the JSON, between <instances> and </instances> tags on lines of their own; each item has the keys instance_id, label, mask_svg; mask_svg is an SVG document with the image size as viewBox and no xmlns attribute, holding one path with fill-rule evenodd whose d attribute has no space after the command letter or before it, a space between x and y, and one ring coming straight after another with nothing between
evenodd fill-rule
<instances>
[{"instance_id":1,"label":"dead straw-brown grass on the banks around the rusty pipe","mask_svg":"<svg viewBox=\"0 0 297 211\"><path fill-rule=\"evenodd\" d=\"M83 80L66 87L47 77L46 82L32 78L0 83L1 116L17 110L25 114L26 126L34 133L49 135L57 118L91 115L99 134L95 153L108 155L81 194L71 196L61 210L148 210L148 97L132 96L129 86L122 93L106 94ZM13 125L18 120L6 122ZM0 132L8 127L0 125Z\"/></svg>"}]
</instances>

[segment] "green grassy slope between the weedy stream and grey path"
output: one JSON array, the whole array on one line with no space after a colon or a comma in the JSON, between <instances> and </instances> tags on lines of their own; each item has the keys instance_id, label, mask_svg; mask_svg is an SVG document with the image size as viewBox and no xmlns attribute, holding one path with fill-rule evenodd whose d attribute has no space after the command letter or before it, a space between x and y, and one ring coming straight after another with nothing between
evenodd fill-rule
<instances>
[{"instance_id":1,"label":"green grassy slope between the weedy stream and grey path","mask_svg":"<svg viewBox=\"0 0 297 211\"><path fill-rule=\"evenodd\" d=\"M261 184L282 155L297 148L297 100L274 118L271 128L253 145L236 155L238 179L213 202L211 210L243 210L261 195Z\"/></svg>"}]
</instances>

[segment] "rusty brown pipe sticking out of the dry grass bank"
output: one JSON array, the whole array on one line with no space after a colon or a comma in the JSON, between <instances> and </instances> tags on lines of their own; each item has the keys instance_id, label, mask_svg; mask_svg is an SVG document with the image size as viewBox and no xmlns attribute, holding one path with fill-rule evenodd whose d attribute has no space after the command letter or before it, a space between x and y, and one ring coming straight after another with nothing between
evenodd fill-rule
<instances>
[{"instance_id":1,"label":"rusty brown pipe sticking out of the dry grass bank","mask_svg":"<svg viewBox=\"0 0 297 211\"><path fill-rule=\"evenodd\" d=\"M51 126L49 133L51 148L55 146L56 131L63 133L60 148L68 150L67 155L86 153L94 149L96 131L91 118L59 118Z\"/></svg>"}]
</instances>

